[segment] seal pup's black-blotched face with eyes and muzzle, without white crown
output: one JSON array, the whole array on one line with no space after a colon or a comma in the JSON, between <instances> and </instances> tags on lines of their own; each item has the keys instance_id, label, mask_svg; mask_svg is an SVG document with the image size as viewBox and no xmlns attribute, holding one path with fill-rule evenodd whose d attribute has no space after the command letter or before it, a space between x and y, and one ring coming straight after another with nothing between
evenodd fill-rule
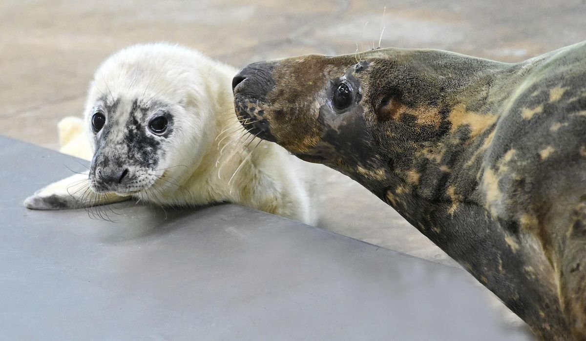
<instances>
[{"instance_id":1,"label":"seal pup's black-blotched face with eyes and muzzle, without white crown","mask_svg":"<svg viewBox=\"0 0 586 341\"><path fill-rule=\"evenodd\" d=\"M95 146L90 168L94 192L130 195L150 187L166 168L166 150L180 108L120 94L94 103L88 126Z\"/></svg>"}]
</instances>

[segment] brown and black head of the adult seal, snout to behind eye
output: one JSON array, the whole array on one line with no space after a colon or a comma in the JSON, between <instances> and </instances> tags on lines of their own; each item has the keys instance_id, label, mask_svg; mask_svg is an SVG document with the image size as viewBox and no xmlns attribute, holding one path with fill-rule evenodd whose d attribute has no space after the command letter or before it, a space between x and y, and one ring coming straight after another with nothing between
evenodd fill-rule
<instances>
[{"instance_id":1,"label":"brown and black head of the adult seal, snout to behind eye","mask_svg":"<svg viewBox=\"0 0 586 341\"><path fill-rule=\"evenodd\" d=\"M303 160L336 164L352 156L358 163L370 143L364 140L369 68L354 56L250 64L234 78L235 105L257 121L249 127L259 136Z\"/></svg>"}]
</instances>

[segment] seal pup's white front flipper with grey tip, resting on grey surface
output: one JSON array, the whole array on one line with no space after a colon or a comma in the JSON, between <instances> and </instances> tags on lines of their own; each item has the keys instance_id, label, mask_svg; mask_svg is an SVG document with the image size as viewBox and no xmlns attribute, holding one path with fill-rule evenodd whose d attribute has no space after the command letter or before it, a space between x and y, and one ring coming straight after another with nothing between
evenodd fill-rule
<instances>
[{"instance_id":1,"label":"seal pup's white front flipper with grey tip, resting on grey surface","mask_svg":"<svg viewBox=\"0 0 586 341\"><path fill-rule=\"evenodd\" d=\"M96 194L90 188L88 173L71 175L36 191L24 204L30 209L71 209L113 204L130 197L114 193Z\"/></svg>"}]
</instances>

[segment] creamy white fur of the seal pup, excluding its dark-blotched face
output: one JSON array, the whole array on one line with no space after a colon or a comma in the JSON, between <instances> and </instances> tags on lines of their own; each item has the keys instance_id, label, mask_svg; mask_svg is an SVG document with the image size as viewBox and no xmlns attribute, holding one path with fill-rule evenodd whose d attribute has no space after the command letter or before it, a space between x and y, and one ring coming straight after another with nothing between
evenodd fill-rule
<instances>
[{"instance_id":1,"label":"creamy white fur of the seal pup, excluding its dark-blotched face","mask_svg":"<svg viewBox=\"0 0 586 341\"><path fill-rule=\"evenodd\" d=\"M231 91L236 71L185 47L165 43L128 47L109 57L96 71L88 91L84 120L66 118L59 123L61 150L83 159L91 158L91 115L97 99L104 95L171 103L174 130L165 140L165 156L159 161L161 171L156 174L166 180L155 177L150 188L132 197L177 206L234 202L312 223L306 188L292 171L294 157L275 143L257 138L247 143L252 136L242 137L245 132L239 130ZM115 133L123 131L118 129ZM108 198L100 196L94 202L83 202L84 198L74 194L76 187L72 190L71 184L84 176L87 177L74 175L70 181L49 185L26 199L25 205L33 209L60 208L43 200L52 195L63 197L68 207L121 200L108 194Z\"/></svg>"}]
</instances>

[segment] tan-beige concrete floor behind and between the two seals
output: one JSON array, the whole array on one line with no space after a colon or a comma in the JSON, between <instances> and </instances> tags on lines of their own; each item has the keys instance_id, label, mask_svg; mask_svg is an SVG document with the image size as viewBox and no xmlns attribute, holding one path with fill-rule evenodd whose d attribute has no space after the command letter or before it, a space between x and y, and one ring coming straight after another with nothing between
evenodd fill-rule
<instances>
[{"instance_id":1,"label":"tan-beige concrete floor behind and between the two seals","mask_svg":"<svg viewBox=\"0 0 586 341\"><path fill-rule=\"evenodd\" d=\"M580 42L585 18L586 0L0 0L1 133L56 149L56 123L80 115L98 64L133 43L176 42L242 67L370 49L382 23L381 47L519 61ZM320 171L323 228L455 265L360 185Z\"/></svg>"}]
</instances>

